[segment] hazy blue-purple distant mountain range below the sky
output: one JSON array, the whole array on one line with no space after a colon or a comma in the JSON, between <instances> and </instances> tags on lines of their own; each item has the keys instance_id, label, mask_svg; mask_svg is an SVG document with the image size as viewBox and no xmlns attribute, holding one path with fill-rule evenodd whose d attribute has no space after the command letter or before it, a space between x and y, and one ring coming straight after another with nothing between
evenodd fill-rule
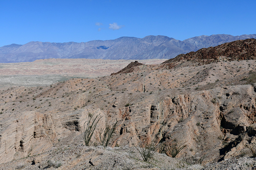
<instances>
[{"instance_id":1,"label":"hazy blue-purple distant mountain range below the sky","mask_svg":"<svg viewBox=\"0 0 256 170\"><path fill-rule=\"evenodd\" d=\"M225 42L249 38L256 38L256 34L201 35L184 41L161 35L149 35L144 38L120 37L115 40L94 40L81 43L31 41L24 45L11 44L0 47L0 63L32 62L47 58L170 59L200 48L214 47Z\"/></svg>"}]
</instances>

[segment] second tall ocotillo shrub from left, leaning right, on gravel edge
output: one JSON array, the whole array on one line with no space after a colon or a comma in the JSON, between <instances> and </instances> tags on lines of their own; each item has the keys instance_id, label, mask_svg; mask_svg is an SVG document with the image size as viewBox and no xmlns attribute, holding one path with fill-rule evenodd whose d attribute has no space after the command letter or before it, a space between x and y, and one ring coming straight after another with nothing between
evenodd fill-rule
<instances>
[{"instance_id":1,"label":"second tall ocotillo shrub from left, leaning right, on gravel edge","mask_svg":"<svg viewBox=\"0 0 256 170\"><path fill-rule=\"evenodd\" d=\"M112 127L110 125L107 125L105 130L104 128L103 129L100 128L100 139L98 138L97 139L102 146L104 147L108 146L111 136L115 132L117 122L118 121L116 121L116 123Z\"/></svg>"}]
</instances>

